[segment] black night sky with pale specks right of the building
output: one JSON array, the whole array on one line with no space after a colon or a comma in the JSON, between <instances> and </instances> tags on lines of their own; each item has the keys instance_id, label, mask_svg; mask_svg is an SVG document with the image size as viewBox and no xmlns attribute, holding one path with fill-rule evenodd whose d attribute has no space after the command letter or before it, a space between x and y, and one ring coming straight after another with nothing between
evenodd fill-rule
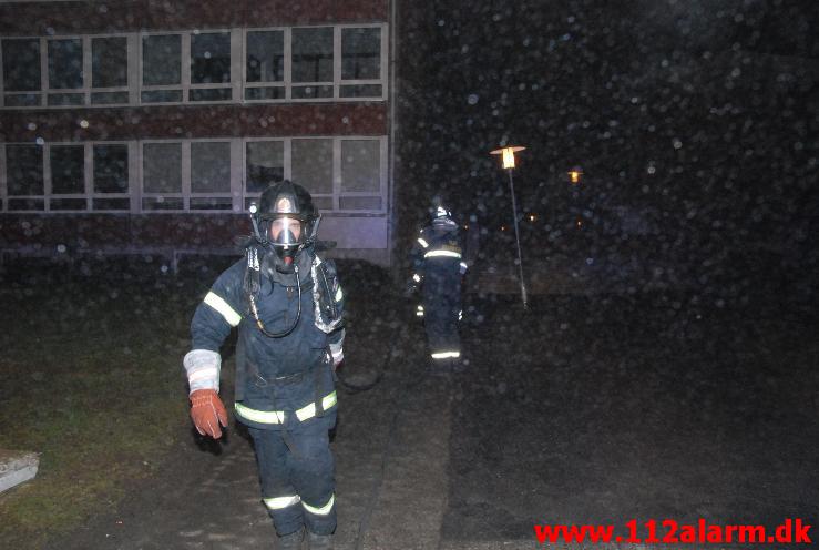
<instances>
[{"instance_id":1,"label":"black night sky with pale specks right of the building","mask_svg":"<svg viewBox=\"0 0 819 550\"><path fill-rule=\"evenodd\" d=\"M439 190L464 218L511 222L488 154L511 143L529 147L515 185L541 214L524 231L532 255L627 244L694 269L816 266L812 2L417 3L399 22L406 231ZM575 164L581 189L565 181ZM582 237L567 230L577 215Z\"/></svg>"}]
</instances>

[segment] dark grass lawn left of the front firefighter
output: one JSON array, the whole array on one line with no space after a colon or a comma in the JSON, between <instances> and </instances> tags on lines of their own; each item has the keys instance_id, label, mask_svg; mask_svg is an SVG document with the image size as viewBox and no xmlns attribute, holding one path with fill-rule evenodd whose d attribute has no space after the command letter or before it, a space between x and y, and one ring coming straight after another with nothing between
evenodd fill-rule
<instances>
[{"instance_id":1,"label":"dark grass lawn left of the front firefighter","mask_svg":"<svg viewBox=\"0 0 819 550\"><path fill-rule=\"evenodd\" d=\"M40 454L37 478L0 493L0 546L39 548L161 466L188 422L190 319L224 264L0 272L0 448Z\"/></svg>"}]
</instances>

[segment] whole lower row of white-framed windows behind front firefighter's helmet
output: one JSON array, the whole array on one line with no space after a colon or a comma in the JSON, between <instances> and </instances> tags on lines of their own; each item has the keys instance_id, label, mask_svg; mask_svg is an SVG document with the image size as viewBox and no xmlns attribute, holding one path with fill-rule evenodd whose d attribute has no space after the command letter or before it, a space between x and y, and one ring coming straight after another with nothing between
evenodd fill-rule
<instances>
[{"instance_id":1,"label":"whole lower row of white-framed windows behind front firefighter's helmet","mask_svg":"<svg viewBox=\"0 0 819 550\"><path fill-rule=\"evenodd\" d=\"M386 136L7 143L0 210L245 212L289 179L325 213L383 213L386 151Z\"/></svg>"}]
</instances>

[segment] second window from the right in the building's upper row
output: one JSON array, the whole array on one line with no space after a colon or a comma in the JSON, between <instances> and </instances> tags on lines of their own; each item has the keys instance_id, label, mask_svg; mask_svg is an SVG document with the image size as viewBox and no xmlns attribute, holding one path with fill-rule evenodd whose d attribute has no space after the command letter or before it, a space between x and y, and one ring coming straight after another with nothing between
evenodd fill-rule
<instances>
[{"instance_id":1,"label":"second window from the right in the building's upper row","mask_svg":"<svg viewBox=\"0 0 819 550\"><path fill-rule=\"evenodd\" d=\"M332 98L332 27L293 29L293 99Z\"/></svg>"}]
</instances>

